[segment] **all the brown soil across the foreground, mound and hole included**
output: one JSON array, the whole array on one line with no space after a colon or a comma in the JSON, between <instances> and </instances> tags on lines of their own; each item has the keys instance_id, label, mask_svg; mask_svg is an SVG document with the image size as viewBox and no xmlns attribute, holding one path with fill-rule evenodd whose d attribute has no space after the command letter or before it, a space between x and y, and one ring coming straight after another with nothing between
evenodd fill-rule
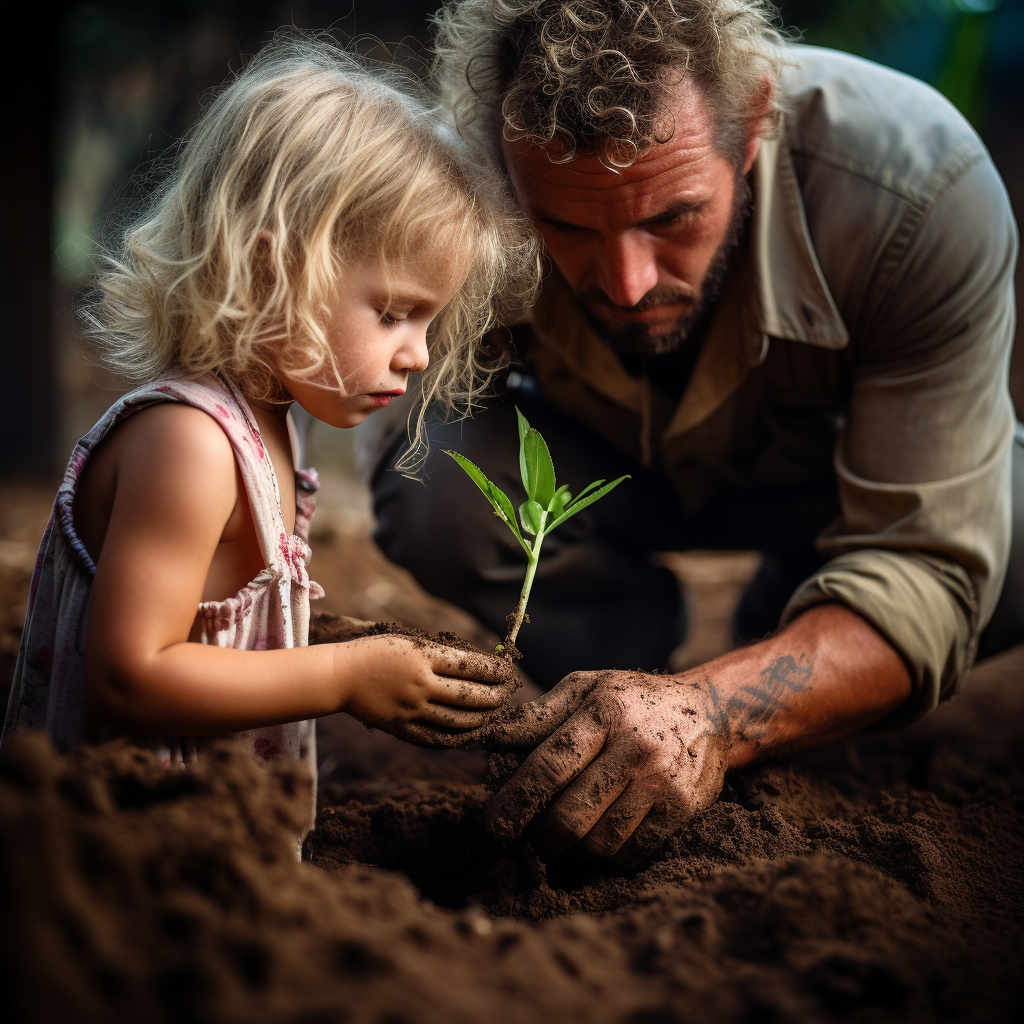
<instances>
[{"instance_id":1,"label":"all the brown soil across the foreground, mound and hole included","mask_svg":"<svg viewBox=\"0 0 1024 1024\"><path fill-rule=\"evenodd\" d=\"M31 1022L1004 1021L1024 948L1020 656L903 733L730 775L641 870L483 826L482 756L343 718L322 812L230 746L0 754L0 984ZM8 1019L12 1019L8 1017Z\"/></svg>"}]
</instances>

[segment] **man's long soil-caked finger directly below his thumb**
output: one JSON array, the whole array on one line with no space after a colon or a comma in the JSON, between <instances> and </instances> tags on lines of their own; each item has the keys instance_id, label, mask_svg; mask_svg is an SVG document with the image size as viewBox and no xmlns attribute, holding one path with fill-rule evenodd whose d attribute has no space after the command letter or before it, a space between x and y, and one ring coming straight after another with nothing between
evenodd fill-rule
<instances>
[{"instance_id":1,"label":"man's long soil-caked finger directly below his thumb","mask_svg":"<svg viewBox=\"0 0 1024 1024\"><path fill-rule=\"evenodd\" d=\"M500 839L515 839L594 760L606 734L607 727L588 715L546 739L495 795L488 814L492 831Z\"/></svg>"}]
</instances>

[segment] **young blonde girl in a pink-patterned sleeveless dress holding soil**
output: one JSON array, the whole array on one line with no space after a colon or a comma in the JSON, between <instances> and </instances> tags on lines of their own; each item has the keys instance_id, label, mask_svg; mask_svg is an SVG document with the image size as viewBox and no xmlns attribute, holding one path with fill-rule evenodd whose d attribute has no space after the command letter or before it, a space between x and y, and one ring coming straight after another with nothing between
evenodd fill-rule
<instances>
[{"instance_id":1,"label":"young blonde girl in a pink-patterned sleeveless dress holding soil","mask_svg":"<svg viewBox=\"0 0 1024 1024\"><path fill-rule=\"evenodd\" d=\"M430 337L424 391L453 407L492 300L536 278L528 232L453 145L420 101L295 37L203 114L86 310L143 383L71 459L5 734L128 734L179 764L241 733L314 771L317 716L429 741L502 701L508 673L485 655L306 646L316 481L296 472L289 406L355 426L427 367Z\"/></svg>"}]
</instances>

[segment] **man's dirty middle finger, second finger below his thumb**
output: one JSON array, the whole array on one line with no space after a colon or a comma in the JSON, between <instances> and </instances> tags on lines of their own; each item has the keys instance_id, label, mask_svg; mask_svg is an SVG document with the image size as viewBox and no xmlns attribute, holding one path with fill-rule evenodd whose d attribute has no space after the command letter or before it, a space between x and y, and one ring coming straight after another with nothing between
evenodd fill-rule
<instances>
[{"instance_id":1,"label":"man's dirty middle finger, second finger below his thumb","mask_svg":"<svg viewBox=\"0 0 1024 1024\"><path fill-rule=\"evenodd\" d=\"M551 859L581 840L586 842L629 784L630 767L606 753L599 755L538 815L529 834L538 853Z\"/></svg>"}]
</instances>

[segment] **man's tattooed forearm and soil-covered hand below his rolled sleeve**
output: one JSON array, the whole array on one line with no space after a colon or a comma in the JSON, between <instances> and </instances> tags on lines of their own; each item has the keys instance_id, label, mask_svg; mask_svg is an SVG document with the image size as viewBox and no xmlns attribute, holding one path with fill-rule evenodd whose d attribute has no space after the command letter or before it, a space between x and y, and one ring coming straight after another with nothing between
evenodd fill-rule
<instances>
[{"instance_id":1,"label":"man's tattooed forearm and soil-covered hand below his rolled sleeve","mask_svg":"<svg viewBox=\"0 0 1024 1024\"><path fill-rule=\"evenodd\" d=\"M843 605L690 672L577 672L483 730L529 749L494 799L492 828L542 855L636 863L714 803L726 768L862 729L910 695L895 649ZM543 740L543 742L541 742Z\"/></svg>"}]
</instances>

